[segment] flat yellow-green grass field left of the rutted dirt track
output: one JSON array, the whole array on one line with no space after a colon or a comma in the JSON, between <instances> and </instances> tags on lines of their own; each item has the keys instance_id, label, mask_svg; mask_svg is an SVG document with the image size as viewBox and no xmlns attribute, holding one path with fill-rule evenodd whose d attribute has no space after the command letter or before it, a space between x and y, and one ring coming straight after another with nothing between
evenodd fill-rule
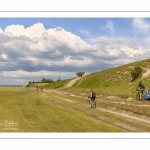
<instances>
[{"instance_id":1,"label":"flat yellow-green grass field left of the rutted dirt track","mask_svg":"<svg viewBox=\"0 0 150 150\"><path fill-rule=\"evenodd\" d=\"M70 107L56 105L36 88L1 87L0 93L0 132L125 131Z\"/></svg>"}]
</instances>

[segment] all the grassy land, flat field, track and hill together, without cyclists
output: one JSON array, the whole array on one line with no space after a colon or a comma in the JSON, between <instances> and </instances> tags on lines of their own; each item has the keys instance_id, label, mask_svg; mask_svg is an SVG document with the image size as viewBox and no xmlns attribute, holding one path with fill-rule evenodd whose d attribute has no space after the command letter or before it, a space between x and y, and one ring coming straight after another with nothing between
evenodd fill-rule
<instances>
[{"instance_id":1,"label":"all the grassy land, flat field, track and hill together, without cyclists","mask_svg":"<svg viewBox=\"0 0 150 150\"><path fill-rule=\"evenodd\" d=\"M150 101L137 101L142 81L150 89L150 59L73 79L27 87L0 87L0 132L150 132ZM142 76L131 82L140 66ZM97 109L87 98L94 89Z\"/></svg>"}]
</instances>

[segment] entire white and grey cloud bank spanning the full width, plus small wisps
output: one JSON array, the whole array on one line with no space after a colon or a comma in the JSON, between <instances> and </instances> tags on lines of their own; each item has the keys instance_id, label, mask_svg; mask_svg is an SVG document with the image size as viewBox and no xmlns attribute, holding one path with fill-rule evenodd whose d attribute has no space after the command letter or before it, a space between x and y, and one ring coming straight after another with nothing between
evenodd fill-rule
<instances>
[{"instance_id":1,"label":"entire white and grey cloud bank spanning the full width, plus small wisps","mask_svg":"<svg viewBox=\"0 0 150 150\"><path fill-rule=\"evenodd\" d=\"M115 31L111 21L105 28ZM70 78L78 71L102 70L150 54L141 48L136 38L98 37L91 41L93 44L61 27L45 29L42 23L27 28L18 24L7 26L4 31L0 29L0 76L1 80L5 79L1 83L10 78L20 84L42 77Z\"/></svg>"}]
</instances>

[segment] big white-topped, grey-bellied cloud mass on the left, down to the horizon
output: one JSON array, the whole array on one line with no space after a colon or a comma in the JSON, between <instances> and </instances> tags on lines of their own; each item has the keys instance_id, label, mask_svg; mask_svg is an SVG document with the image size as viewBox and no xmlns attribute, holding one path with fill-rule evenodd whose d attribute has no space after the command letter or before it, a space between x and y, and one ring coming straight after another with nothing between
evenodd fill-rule
<instances>
[{"instance_id":1,"label":"big white-topped, grey-bellied cloud mass on the left, down to the horizon","mask_svg":"<svg viewBox=\"0 0 150 150\"><path fill-rule=\"evenodd\" d=\"M93 62L92 45L60 27L46 30L41 23L7 26L0 47L1 78L73 77Z\"/></svg>"}]
</instances>

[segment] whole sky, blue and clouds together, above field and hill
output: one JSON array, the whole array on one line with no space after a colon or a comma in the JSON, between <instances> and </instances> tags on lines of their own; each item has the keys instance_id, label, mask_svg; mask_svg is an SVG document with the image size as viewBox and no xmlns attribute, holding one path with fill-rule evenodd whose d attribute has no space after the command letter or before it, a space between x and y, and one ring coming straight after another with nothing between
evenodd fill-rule
<instances>
[{"instance_id":1,"label":"whole sky, blue and clouds together, above field and hill","mask_svg":"<svg viewBox=\"0 0 150 150\"><path fill-rule=\"evenodd\" d=\"M0 85L74 78L149 56L149 18L0 18Z\"/></svg>"}]
</instances>

